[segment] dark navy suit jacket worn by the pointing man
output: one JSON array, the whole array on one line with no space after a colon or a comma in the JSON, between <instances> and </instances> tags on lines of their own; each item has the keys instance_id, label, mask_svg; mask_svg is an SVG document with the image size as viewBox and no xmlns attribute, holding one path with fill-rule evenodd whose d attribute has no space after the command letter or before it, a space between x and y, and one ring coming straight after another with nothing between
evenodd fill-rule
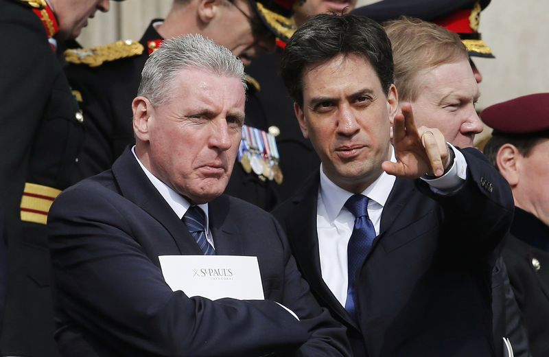
<instances>
[{"instance_id":1,"label":"dark navy suit jacket worn by the pointing man","mask_svg":"<svg viewBox=\"0 0 549 357\"><path fill-rule=\"evenodd\" d=\"M320 305L347 326L355 356L493 356L491 251L509 228L511 190L476 149L463 150L459 192L437 196L397 179L380 233L357 275L359 324L320 273L318 172L274 214Z\"/></svg>"}]
</instances>

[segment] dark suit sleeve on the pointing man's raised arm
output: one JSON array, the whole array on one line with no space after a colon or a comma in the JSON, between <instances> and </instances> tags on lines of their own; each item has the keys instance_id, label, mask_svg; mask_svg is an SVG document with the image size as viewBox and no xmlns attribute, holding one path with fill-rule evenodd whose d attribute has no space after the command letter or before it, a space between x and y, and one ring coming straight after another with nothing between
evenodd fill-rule
<instances>
[{"instance_id":1,"label":"dark suit sleeve on the pointing man's raised arm","mask_svg":"<svg viewBox=\"0 0 549 357\"><path fill-rule=\"evenodd\" d=\"M513 194L509 183L484 154L475 148L460 151L467 161L467 180L457 192L440 196L421 180L417 183L423 194L441 205L442 229L446 232L443 236L454 240L455 246L485 257L509 231L513 218ZM478 249L471 249L473 246Z\"/></svg>"}]
</instances>

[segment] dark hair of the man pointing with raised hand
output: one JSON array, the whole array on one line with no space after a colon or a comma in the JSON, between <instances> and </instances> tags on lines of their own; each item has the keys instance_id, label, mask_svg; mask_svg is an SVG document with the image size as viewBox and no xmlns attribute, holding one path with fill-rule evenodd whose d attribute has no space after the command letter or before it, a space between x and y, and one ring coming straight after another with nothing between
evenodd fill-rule
<instances>
[{"instance_id":1,"label":"dark hair of the man pointing with raised hand","mask_svg":"<svg viewBox=\"0 0 549 357\"><path fill-rule=\"evenodd\" d=\"M303 106L305 67L340 54L364 56L388 93L394 82L393 52L383 27L364 16L319 14L296 30L282 54L282 79L299 106Z\"/></svg>"}]
</instances>

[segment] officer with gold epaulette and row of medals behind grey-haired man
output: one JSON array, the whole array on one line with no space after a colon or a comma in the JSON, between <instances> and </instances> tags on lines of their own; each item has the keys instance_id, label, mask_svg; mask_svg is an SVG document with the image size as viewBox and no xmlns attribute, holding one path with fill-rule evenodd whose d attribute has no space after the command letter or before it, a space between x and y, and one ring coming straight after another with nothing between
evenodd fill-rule
<instances>
[{"instance_id":1,"label":"officer with gold epaulette and row of medals behind grey-haired man","mask_svg":"<svg viewBox=\"0 0 549 357\"><path fill-rule=\"evenodd\" d=\"M78 163L80 177L107 170L128 144L133 143L131 103L149 54L164 38L202 34L231 49L244 65L261 51L274 49L274 34L285 34L282 15L290 15L292 1L189 0L174 1L164 20L153 20L141 41L118 41L92 49L66 52L66 69L73 89L82 95L86 137ZM274 33L274 34L273 34ZM227 194L270 209L277 172L277 150L266 135L266 119L255 92L259 84L248 80L243 147ZM278 174L278 175L275 175Z\"/></svg>"}]
</instances>

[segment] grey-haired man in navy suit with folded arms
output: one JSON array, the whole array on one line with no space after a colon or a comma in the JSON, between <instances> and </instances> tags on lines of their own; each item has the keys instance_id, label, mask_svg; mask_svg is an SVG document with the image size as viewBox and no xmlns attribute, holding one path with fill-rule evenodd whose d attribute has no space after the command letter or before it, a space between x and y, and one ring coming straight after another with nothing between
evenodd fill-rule
<instances>
[{"instance_id":1,"label":"grey-haired man in navy suit with folded arms","mask_svg":"<svg viewBox=\"0 0 549 357\"><path fill-rule=\"evenodd\" d=\"M166 40L145 62L132 102L135 146L60 194L49 214L63 356L350 354L276 220L222 195L244 87L242 62L200 35ZM172 291L159 256L202 254L257 257L266 300Z\"/></svg>"}]
</instances>

